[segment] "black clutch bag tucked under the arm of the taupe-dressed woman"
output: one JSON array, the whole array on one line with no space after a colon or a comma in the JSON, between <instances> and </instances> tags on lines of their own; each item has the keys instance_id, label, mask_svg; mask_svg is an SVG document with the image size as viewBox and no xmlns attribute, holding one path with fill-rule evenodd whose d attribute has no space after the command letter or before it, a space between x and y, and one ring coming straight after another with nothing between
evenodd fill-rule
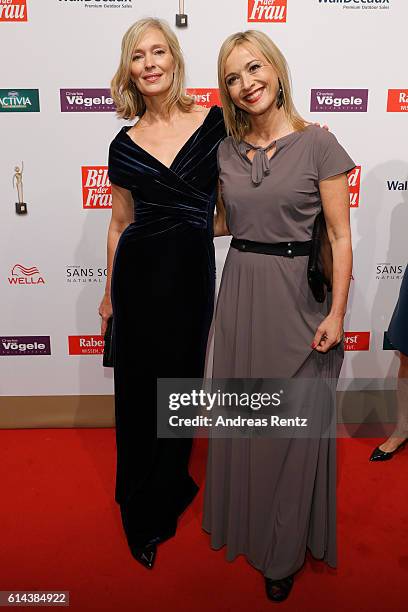
<instances>
[{"instance_id":1,"label":"black clutch bag tucked under the arm of the taupe-dressed woman","mask_svg":"<svg viewBox=\"0 0 408 612\"><path fill-rule=\"evenodd\" d=\"M307 266L307 280L317 302L324 302L332 289L333 254L323 211L316 216Z\"/></svg>"}]
</instances>

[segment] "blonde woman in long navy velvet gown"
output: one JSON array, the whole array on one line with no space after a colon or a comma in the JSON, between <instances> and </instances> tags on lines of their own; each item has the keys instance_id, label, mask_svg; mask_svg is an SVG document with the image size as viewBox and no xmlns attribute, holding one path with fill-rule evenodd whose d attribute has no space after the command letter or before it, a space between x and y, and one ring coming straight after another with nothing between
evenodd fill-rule
<instances>
[{"instance_id":1,"label":"blonde woman in long navy velvet gown","mask_svg":"<svg viewBox=\"0 0 408 612\"><path fill-rule=\"evenodd\" d=\"M198 490L188 471L191 440L156 437L156 381L204 374L217 148L226 135L221 110L196 106L183 81L167 24L134 24L112 94L120 117L139 120L109 149L112 220L99 312L102 333L114 317L115 498L131 552L149 568Z\"/></svg>"}]
</instances>

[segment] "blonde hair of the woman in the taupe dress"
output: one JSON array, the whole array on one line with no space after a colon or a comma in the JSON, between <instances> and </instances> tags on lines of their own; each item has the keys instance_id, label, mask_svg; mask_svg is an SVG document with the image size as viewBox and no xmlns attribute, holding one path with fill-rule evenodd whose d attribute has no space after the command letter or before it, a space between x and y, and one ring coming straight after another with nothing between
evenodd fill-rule
<instances>
[{"instance_id":1,"label":"blonde hair of the woman in the taupe dress","mask_svg":"<svg viewBox=\"0 0 408 612\"><path fill-rule=\"evenodd\" d=\"M218 55L218 84L228 134L239 142L244 139L250 128L248 113L235 106L225 82L226 61L233 49L243 44L251 45L251 47L260 51L268 64L273 66L282 87L281 99L286 117L295 131L304 130L307 123L299 115L293 104L290 73L286 59L269 36L258 30L247 30L246 32L237 32L229 36L224 41Z\"/></svg>"}]
</instances>

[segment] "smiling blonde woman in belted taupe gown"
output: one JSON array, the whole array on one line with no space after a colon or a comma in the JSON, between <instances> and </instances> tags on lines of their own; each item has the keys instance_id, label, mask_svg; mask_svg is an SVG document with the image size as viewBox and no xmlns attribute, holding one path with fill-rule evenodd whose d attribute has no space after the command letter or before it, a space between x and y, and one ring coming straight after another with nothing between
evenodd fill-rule
<instances>
[{"instance_id":1,"label":"smiling blonde woman in belted taupe gown","mask_svg":"<svg viewBox=\"0 0 408 612\"><path fill-rule=\"evenodd\" d=\"M225 210L221 203L215 225L233 243L213 377L337 379L352 267L347 172L355 164L331 133L296 112L285 59L264 33L230 36L218 69L230 136L218 151ZM318 303L304 249L322 208L333 290ZM254 242L286 250L239 250ZM315 406L315 420L324 410ZM306 548L336 565L335 477L330 437L211 440L203 526L212 547L226 545L228 560L244 554L263 573L268 597L283 601Z\"/></svg>"}]
</instances>

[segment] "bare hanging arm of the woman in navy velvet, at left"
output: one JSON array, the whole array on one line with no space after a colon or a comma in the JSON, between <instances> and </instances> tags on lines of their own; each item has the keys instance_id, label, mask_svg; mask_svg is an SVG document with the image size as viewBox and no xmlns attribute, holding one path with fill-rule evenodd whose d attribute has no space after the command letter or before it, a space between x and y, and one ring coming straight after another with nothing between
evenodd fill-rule
<instances>
[{"instance_id":1,"label":"bare hanging arm of the woman in navy velvet, at left","mask_svg":"<svg viewBox=\"0 0 408 612\"><path fill-rule=\"evenodd\" d=\"M106 330L109 317L112 315L111 304L111 279L112 264L116 247L123 230L133 221L133 198L130 191L112 184L112 216L108 228L107 241L107 272L105 294L99 306L99 314L102 317L101 334Z\"/></svg>"}]
</instances>

